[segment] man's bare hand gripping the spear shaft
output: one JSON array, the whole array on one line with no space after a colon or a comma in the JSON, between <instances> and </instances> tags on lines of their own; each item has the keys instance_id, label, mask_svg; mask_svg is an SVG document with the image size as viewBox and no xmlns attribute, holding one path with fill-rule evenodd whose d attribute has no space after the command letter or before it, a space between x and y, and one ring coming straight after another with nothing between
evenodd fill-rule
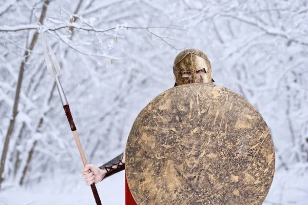
<instances>
[{"instance_id":1,"label":"man's bare hand gripping the spear shaft","mask_svg":"<svg viewBox=\"0 0 308 205\"><path fill-rule=\"evenodd\" d=\"M102 170L95 165L86 165L83 170L81 170L82 178L88 186L92 183L97 184L100 182L106 174L106 170Z\"/></svg>"}]
</instances>

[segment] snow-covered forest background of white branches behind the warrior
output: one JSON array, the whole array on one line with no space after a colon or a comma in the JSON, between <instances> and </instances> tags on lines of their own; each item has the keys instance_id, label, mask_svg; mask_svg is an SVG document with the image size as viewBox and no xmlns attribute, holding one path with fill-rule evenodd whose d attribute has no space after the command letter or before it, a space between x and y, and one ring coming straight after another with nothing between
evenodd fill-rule
<instances>
[{"instance_id":1,"label":"snow-covered forest background of white branches behind the warrior","mask_svg":"<svg viewBox=\"0 0 308 205\"><path fill-rule=\"evenodd\" d=\"M176 55L197 48L215 84L271 129L276 171L263 204L307 204L308 1L0 1L1 205L94 204L39 28L90 163L124 151L141 109L174 86ZM124 204L123 172L97 188L104 204Z\"/></svg>"}]
</instances>

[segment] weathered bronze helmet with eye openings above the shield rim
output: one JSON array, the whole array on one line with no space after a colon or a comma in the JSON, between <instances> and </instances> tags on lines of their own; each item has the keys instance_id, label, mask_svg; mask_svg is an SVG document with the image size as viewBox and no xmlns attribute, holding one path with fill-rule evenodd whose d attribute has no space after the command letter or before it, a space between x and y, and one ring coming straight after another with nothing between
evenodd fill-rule
<instances>
[{"instance_id":1,"label":"weathered bronze helmet with eye openings above the shield rim","mask_svg":"<svg viewBox=\"0 0 308 205\"><path fill-rule=\"evenodd\" d=\"M213 84L211 67L207 56L198 49L186 49L180 52L173 66L176 85L189 83ZM200 75L200 78L198 78Z\"/></svg>"}]
</instances>

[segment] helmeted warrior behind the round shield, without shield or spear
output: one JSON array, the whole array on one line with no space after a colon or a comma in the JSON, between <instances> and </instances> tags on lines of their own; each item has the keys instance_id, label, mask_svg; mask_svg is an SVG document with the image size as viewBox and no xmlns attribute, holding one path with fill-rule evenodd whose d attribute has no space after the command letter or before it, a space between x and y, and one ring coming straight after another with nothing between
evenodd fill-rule
<instances>
[{"instance_id":1,"label":"helmeted warrior behind the round shield, without shield or spear","mask_svg":"<svg viewBox=\"0 0 308 205\"><path fill-rule=\"evenodd\" d=\"M213 84L210 62L207 56L197 49L186 49L180 52L174 61L175 86L189 83ZM81 171L82 178L89 186L93 182L98 183L108 176L123 171L125 169L125 152L111 159L101 167L86 165ZM126 204L136 204L126 184Z\"/></svg>"}]
</instances>

